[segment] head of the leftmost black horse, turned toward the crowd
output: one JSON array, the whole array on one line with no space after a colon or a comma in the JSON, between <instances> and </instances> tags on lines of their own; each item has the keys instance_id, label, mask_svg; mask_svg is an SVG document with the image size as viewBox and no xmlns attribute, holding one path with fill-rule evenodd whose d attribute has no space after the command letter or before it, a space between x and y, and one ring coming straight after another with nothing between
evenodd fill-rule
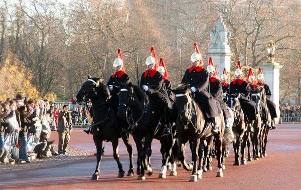
<instances>
[{"instance_id":1,"label":"head of the leftmost black horse, turned toward the crowd","mask_svg":"<svg viewBox=\"0 0 301 190\"><path fill-rule=\"evenodd\" d=\"M102 88L106 93L109 93L107 87L100 82L100 78L91 78L88 76L88 80L83 83L82 87L76 94L76 101L81 103L82 101L87 101L88 99L100 96L100 88Z\"/></svg>"}]
</instances>

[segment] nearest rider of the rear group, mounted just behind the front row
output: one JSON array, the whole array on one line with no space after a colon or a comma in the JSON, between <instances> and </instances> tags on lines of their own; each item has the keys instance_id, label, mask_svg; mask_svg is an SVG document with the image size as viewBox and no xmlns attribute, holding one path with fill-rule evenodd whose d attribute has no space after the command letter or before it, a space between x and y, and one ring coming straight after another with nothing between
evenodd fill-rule
<instances>
[{"instance_id":1,"label":"nearest rider of the rear group, mounted just behind the front row","mask_svg":"<svg viewBox=\"0 0 301 190\"><path fill-rule=\"evenodd\" d=\"M238 99L241 108L244 112L245 121L249 123L248 131L253 131L253 120L256 119L256 104L254 101L249 100L250 86L247 81L243 79L240 61L237 62L237 68L235 70L235 80L230 83L230 94L238 94Z\"/></svg>"}]
</instances>

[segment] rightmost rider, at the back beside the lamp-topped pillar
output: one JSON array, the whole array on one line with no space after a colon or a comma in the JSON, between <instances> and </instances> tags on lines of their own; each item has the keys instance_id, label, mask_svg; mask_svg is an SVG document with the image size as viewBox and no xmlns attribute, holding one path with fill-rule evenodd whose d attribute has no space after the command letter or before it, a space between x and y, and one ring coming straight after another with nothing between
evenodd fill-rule
<instances>
[{"instance_id":1,"label":"rightmost rider, at the back beside the lamp-topped pillar","mask_svg":"<svg viewBox=\"0 0 301 190\"><path fill-rule=\"evenodd\" d=\"M270 99L272 96L272 93L271 93L271 90L269 89L269 86L266 83L264 83L264 76L263 76L261 67L258 68L257 79L258 79L257 84L260 86L263 86L265 89L266 104L267 104L267 107L269 109L269 112L271 114L271 119L272 119L272 129L276 129L277 127L274 124L274 118L278 117L277 108L276 108L275 103Z\"/></svg>"}]
</instances>

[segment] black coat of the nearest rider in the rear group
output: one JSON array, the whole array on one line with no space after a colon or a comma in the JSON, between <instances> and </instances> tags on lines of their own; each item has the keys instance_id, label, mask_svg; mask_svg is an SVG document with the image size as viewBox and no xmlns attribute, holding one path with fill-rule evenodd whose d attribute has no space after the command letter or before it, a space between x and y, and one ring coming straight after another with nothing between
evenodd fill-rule
<instances>
[{"instance_id":1,"label":"black coat of the nearest rider in the rear group","mask_svg":"<svg viewBox=\"0 0 301 190\"><path fill-rule=\"evenodd\" d=\"M231 82L229 85L230 85L230 94L240 93L241 95L239 102L241 108L243 109L245 120L251 121L256 119L256 104L254 101L249 100L250 91L251 91L249 83L244 80L240 85L238 81L235 84Z\"/></svg>"}]
</instances>

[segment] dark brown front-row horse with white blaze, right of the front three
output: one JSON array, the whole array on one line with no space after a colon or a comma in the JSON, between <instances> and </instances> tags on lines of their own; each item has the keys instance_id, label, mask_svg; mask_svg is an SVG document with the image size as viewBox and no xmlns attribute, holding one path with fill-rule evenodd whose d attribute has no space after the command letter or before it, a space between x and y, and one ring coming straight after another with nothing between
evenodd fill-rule
<instances>
[{"instance_id":1,"label":"dark brown front-row horse with white blaze, right of the front three","mask_svg":"<svg viewBox=\"0 0 301 190\"><path fill-rule=\"evenodd\" d=\"M198 178L202 178L202 167L204 159L204 140L212 135L211 133L211 124L205 119L204 113L198 102L194 101L193 94L188 88L187 84L180 85L176 89L172 90L176 96L176 104L179 110L179 116L177 118L177 133L179 138L179 155L183 167L192 171L192 174L189 178L189 181L197 181ZM222 142L223 134L225 130L224 116L221 111L220 115L217 116L217 125L219 126L219 132L214 134L216 140L216 149L217 149L217 160L218 160L218 169L217 177L223 177L222 172L222 161L221 161L221 152L222 152ZM193 141L192 149L192 161L193 165L187 163L185 160L185 146L188 140ZM200 154L200 156L199 156ZM199 166L197 169L197 160L199 159Z\"/></svg>"}]
</instances>

